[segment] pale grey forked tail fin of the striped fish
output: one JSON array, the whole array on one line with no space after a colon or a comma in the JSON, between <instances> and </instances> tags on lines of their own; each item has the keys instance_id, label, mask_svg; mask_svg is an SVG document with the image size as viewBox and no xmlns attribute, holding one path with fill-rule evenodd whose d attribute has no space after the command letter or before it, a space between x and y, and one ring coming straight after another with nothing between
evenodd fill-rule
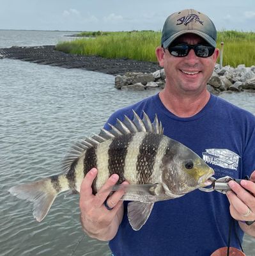
<instances>
[{"instance_id":1,"label":"pale grey forked tail fin of the striped fish","mask_svg":"<svg viewBox=\"0 0 255 256\"><path fill-rule=\"evenodd\" d=\"M13 186L8 191L17 198L33 202L33 216L39 222L45 218L56 196L61 192L52 186L50 178Z\"/></svg>"}]
</instances>

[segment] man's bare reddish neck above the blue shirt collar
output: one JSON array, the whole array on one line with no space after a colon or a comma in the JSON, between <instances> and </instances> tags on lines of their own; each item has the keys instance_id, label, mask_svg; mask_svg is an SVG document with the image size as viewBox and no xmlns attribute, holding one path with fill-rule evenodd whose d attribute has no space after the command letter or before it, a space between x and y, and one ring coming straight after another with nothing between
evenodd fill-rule
<instances>
[{"instance_id":1,"label":"man's bare reddish neck above the blue shirt collar","mask_svg":"<svg viewBox=\"0 0 255 256\"><path fill-rule=\"evenodd\" d=\"M185 118L199 113L209 101L210 93L207 90L203 90L201 93L178 95L177 93L169 92L165 88L159 93L159 97L171 113Z\"/></svg>"}]
</instances>

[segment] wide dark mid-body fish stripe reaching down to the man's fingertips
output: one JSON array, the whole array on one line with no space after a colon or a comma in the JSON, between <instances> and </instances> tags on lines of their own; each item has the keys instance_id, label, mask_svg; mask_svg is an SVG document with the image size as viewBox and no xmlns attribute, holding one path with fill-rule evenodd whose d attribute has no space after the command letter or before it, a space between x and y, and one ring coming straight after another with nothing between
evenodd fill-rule
<instances>
[{"instance_id":1,"label":"wide dark mid-body fish stripe reaching down to the man's fingertips","mask_svg":"<svg viewBox=\"0 0 255 256\"><path fill-rule=\"evenodd\" d=\"M116 137L112 140L112 143L109 146L109 175L112 175L113 173L118 173L118 184L122 183L125 180L125 159L128 152L128 145L130 141L132 141L133 136L134 134L129 133L120 137Z\"/></svg>"}]
</instances>

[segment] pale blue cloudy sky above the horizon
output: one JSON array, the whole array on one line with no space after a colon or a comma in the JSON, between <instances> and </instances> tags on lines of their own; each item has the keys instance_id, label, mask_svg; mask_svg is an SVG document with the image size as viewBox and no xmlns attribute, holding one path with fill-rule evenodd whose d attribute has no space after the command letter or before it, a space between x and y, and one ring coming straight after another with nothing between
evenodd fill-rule
<instances>
[{"instance_id":1,"label":"pale blue cloudy sky above the horizon","mask_svg":"<svg viewBox=\"0 0 255 256\"><path fill-rule=\"evenodd\" d=\"M254 0L0 0L0 29L158 31L186 8L208 15L218 30L255 31Z\"/></svg>"}]
</instances>

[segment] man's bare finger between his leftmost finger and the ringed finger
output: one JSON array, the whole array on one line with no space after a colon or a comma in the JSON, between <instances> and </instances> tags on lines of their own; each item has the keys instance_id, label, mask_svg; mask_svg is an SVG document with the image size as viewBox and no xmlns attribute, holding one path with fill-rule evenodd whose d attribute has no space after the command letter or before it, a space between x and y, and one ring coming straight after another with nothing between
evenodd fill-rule
<instances>
[{"instance_id":1,"label":"man's bare finger between his leftmost finger and the ringed finger","mask_svg":"<svg viewBox=\"0 0 255 256\"><path fill-rule=\"evenodd\" d=\"M119 179L118 174L112 174L109 179L105 182L104 186L98 191L97 195L95 196L95 206L100 207L102 204L104 204L107 196L109 196L109 193L111 192L112 186L114 186Z\"/></svg>"}]
</instances>

